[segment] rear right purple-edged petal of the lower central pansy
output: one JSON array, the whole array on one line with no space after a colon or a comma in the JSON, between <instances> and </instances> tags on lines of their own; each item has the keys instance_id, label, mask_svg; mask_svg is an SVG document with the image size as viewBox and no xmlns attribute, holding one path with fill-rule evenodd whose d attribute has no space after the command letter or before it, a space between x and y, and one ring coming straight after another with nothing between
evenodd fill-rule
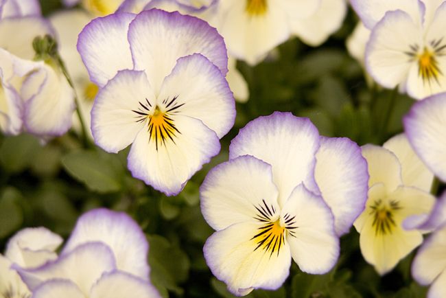
<instances>
[{"instance_id":1,"label":"rear right purple-edged petal of the lower central pansy","mask_svg":"<svg viewBox=\"0 0 446 298\"><path fill-rule=\"evenodd\" d=\"M314 175L333 211L336 233L348 233L367 200L368 170L361 148L347 138L321 137Z\"/></svg>"}]
</instances>

